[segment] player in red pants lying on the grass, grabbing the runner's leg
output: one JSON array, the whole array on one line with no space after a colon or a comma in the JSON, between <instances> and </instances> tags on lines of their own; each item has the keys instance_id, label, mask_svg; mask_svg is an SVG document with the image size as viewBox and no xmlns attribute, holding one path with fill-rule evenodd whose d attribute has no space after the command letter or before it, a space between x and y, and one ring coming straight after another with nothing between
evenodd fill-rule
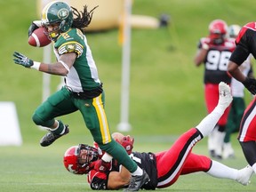
<instances>
[{"instance_id":1,"label":"player in red pants lying on the grass, grabbing the runner's leg","mask_svg":"<svg viewBox=\"0 0 256 192\"><path fill-rule=\"evenodd\" d=\"M178 180L180 174L193 172L207 172L213 177L236 180L247 185L252 176L252 167L246 166L244 169L236 170L213 161L207 156L199 156L191 152L197 141L212 132L214 125L231 101L232 96L228 84L220 83L220 99L217 107L195 128L183 133L166 151L158 153L132 152L133 140L131 137L124 137L118 132L113 133L113 138L124 146L128 154L131 154L133 161L147 170L150 180L142 188L167 188ZM98 152L96 148L86 145L68 148L64 155L64 165L69 172L88 173L88 181L92 189L117 189L129 185L130 173L123 166L120 167L119 164L116 164L116 161L109 164L109 169L106 172L98 172L93 169L94 162L99 161L96 160L99 153L101 156L101 151Z\"/></svg>"}]
</instances>

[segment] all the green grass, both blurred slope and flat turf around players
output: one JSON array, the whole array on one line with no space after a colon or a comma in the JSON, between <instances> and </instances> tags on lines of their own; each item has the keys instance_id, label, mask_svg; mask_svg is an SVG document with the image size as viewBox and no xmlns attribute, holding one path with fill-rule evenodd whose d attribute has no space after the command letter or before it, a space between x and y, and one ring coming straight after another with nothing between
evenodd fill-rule
<instances>
[{"instance_id":1,"label":"all the green grass, both blurred slope and flat turf around players","mask_svg":"<svg viewBox=\"0 0 256 192\"><path fill-rule=\"evenodd\" d=\"M86 1L85 1L86 2ZM132 29L130 116L135 136L135 150L160 151L169 148L177 135L199 123L205 116L203 68L196 68L193 58L201 36L207 36L208 24L223 19L228 24L243 25L255 20L252 0L135 0L132 13L158 18L171 16L169 28ZM115 5L113 5L115 6ZM89 7L90 8L90 7ZM0 101L13 101L20 120L23 145L0 147L0 191L86 191L84 176L67 172L62 165L64 151L78 143L92 143L79 113L61 118L70 125L70 133L48 148L41 148L44 135L31 116L42 101L42 74L13 64L12 52L19 51L33 60L42 60L41 48L28 45L28 27L37 20L36 1L0 1L1 70ZM108 12L106 12L108 14ZM112 132L120 121L122 48L118 30L88 34L94 60L104 83L106 111ZM52 58L53 60L53 58ZM52 76L51 92L60 83ZM250 95L246 92L246 100ZM0 108L1 110L1 108ZM8 127L0 127L1 130ZM224 164L242 168L246 161L232 138L236 159ZM206 141L194 152L207 155ZM214 179L204 173L181 176L164 191L255 191L256 180L244 187L231 180Z\"/></svg>"}]
</instances>

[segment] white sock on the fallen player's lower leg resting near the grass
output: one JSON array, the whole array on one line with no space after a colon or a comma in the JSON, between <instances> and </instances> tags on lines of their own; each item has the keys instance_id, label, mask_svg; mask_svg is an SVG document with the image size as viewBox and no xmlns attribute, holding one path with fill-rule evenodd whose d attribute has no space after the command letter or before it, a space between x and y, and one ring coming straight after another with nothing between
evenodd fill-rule
<instances>
[{"instance_id":1,"label":"white sock on the fallen player's lower leg resting near the grass","mask_svg":"<svg viewBox=\"0 0 256 192\"><path fill-rule=\"evenodd\" d=\"M215 178L236 180L238 170L212 160L212 166L206 173Z\"/></svg>"}]
</instances>

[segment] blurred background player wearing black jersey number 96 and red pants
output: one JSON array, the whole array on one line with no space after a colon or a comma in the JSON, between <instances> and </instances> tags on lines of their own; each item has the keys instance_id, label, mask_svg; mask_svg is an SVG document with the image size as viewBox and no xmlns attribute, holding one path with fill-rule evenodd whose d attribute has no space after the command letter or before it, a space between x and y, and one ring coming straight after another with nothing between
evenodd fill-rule
<instances>
[{"instance_id":1,"label":"blurred background player wearing black jersey number 96 and red pants","mask_svg":"<svg viewBox=\"0 0 256 192\"><path fill-rule=\"evenodd\" d=\"M196 52L196 67L204 63L204 100L208 113L211 113L219 98L218 84L222 81L230 84L228 59L235 50L236 44L227 38L228 25L224 20L212 20L209 25L209 36L200 39ZM209 135L208 149L212 157L222 158L222 144L228 121L229 108L220 117L216 128Z\"/></svg>"}]
</instances>

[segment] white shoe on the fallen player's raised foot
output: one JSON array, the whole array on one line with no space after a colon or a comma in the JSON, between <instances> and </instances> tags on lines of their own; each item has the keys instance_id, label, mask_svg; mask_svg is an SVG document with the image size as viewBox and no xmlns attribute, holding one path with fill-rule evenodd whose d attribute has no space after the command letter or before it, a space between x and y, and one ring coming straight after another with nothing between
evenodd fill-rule
<instances>
[{"instance_id":1,"label":"white shoe on the fallen player's raised foot","mask_svg":"<svg viewBox=\"0 0 256 192\"><path fill-rule=\"evenodd\" d=\"M230 86L228 84L225 84L224 82L220 82L219 92L220 92L220 97L219 97L218 106L221 106L222 108L226 109L228 108L228 106L233 100Z\"/></svg>"}]
</instances>

